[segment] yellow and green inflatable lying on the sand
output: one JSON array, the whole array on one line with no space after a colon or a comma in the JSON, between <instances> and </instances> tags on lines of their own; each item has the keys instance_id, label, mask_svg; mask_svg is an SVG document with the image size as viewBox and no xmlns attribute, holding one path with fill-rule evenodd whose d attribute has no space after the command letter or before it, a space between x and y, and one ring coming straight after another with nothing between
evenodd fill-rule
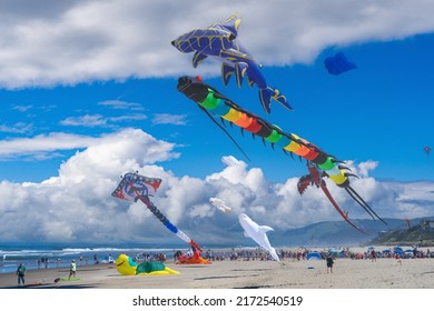
<instances>
[{"instance_id":1,"label":"yellow and green inflatable lying on the sand","mask_svg":"<svg viewBox=\"0 0 434 311\"><path fill-rule=\"evenodd\" d=\"M157 261L145 261L137 264L132 258L120 254L116 260L116 269L124 275L168 275L179 274L178 271L171 270L161 262Z\"/></svg>"}]
</instances>

